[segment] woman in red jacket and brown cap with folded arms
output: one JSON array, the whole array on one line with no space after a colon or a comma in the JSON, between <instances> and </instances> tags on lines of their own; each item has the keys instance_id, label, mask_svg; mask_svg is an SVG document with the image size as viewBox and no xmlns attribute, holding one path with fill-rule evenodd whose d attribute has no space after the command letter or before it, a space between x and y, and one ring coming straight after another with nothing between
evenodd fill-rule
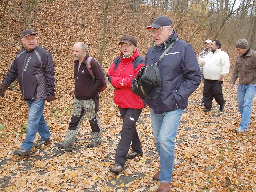
<instances>
[{"instance_id":1,"label":"woman in red jacket and brown cap with folded arms","mask_svg":"<svg viewBox=\"0 0 256 192\"><path fill-rule=\"evenodd\" d=\"M114 102L118 105L123 119L121 139L116 149L115 164L110 171L118 174L124 168L127 159L133 159L143 154L136 122L146 102L132 92L132 81L145 66L144 58L140 56L137 47L137 39L132 35L121 37L118 43L122 52L108 70L108 80L115 88ZM128 154L130 146L132 152ZM127 155L128 154L128 155Z\"/></svg>"}]
</instances>

